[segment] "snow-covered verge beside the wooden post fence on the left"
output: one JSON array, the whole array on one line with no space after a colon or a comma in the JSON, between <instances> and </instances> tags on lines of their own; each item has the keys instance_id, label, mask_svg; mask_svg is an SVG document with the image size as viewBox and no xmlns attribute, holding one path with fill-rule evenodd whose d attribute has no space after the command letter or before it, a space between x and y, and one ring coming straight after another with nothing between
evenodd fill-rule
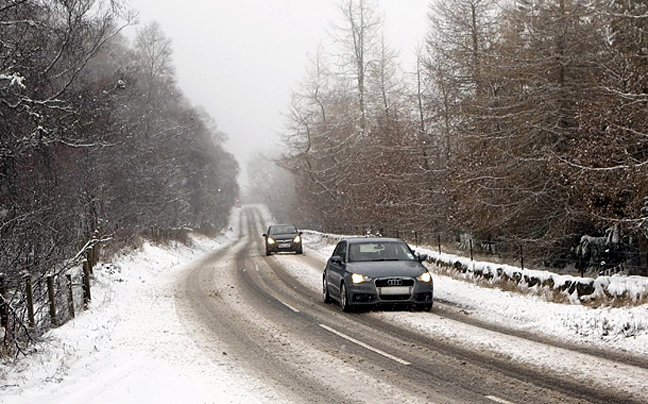
<instances>
[{"instance_id":1,"label":"snow-covered verge beside the wooden post fence on the left","mask_svg":"<svg viewBox=\"0 0 648 404\"><path fill-rule=\"evenodd\" d=\"M224 357L207 359L176 315L173 283L186 265L235 240L139 250L95 268L92 303L51 330L37 353L0 365L0 402L255 403L254 386Z\"/></svg>"}]
</instances>

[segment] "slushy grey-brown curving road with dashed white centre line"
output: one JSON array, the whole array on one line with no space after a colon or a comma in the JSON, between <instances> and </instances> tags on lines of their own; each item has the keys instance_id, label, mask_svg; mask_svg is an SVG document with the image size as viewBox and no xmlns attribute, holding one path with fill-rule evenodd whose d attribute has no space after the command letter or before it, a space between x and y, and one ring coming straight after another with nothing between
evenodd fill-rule
<instances>
[{"instance_id":1,"label":"slushy grey-brown curving road with dashed white centre line","mask_svg":"<svg viewBox=\"0 0 648 404\"><path fill-rule=\"evenodd\" d=\"M639 403L622 391L558 377L506 357L475 352L391 324L343 313L304 288L276 257L266 257L261 214L241 210L231 247L196 263L177 284L176 307L205 355L227 356L258 385L266 402L289 403ZM316 256L291 256L321 268ZM443 302L427 315L463 317ZM582 348L465 319L501 335ZM218 342L218 343L216 343ZM216 346L227 349L215 349ZM589 355L603 352L587 351ZM608 358L609 359L609 358ZM645 362L619 358L647 368Z\"/></svg>"}]
</instances>

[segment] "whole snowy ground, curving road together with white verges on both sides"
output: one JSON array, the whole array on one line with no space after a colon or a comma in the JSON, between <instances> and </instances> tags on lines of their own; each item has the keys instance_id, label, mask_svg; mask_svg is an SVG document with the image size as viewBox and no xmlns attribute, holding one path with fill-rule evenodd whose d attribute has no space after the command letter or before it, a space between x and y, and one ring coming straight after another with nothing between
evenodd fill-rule
<instances>
[{"instance_id":1,"label":"whole snowy ground, curving road together with white verges on both sides","mask_svg":"<svg viewBox=\"0 0 648 404\"><path fill-rule=\"evenodd\" d=\"M147 244L98 269L89 311L0 366L0 403L648 403L646 335L592 337L599 319L643 324L645 307L436 274L431 312L342 313L321 301L334 244L266 257L270 221L244 207L225 238Z\"/></svg>"}]
</instances>

